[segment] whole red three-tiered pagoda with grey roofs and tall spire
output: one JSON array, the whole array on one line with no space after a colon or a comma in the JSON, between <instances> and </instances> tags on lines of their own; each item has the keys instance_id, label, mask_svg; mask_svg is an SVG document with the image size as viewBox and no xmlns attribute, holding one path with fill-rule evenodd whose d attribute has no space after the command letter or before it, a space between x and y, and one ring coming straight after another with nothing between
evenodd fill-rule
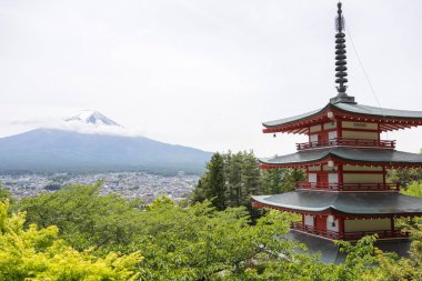
<instances>
[{"instance_id":1,"label":"whole red three-tiered pagoda with grey roofs and tall spire","mask_svg":"<svg viewBox=\"0 0 422 281\"><path fill-rule=\"evenodd\" d=\"M294 212L302 217L292 231L328 240L355 241L376 233L379 240L408 238L396 218L422 215L422 199L401 194L388 183L389 169L422 168L422 155L395 150L381 140L386 131L422 124L422 111L358 104L346 94L346 51L342 4L338 4L335 83L338 94L318 110L264 122L264 133L307 134L298 152L261 159L262 169L304 169L307 182L282 194L255 195L254 208Z\"/></svg>"}]
</instances>

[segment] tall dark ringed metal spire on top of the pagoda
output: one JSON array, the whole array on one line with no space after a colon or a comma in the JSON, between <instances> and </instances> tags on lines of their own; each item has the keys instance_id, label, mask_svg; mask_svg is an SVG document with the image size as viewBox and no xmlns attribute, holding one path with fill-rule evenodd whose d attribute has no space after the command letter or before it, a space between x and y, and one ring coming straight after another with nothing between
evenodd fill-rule
<instances>
[{"instance_id":1,"label":"tall dark ringed metal spire on top of the pagoda","mask_svg":"<svg viewBox=\"0 0 422 281\"><path fill-rule=\"evenodd\" d=\"M354 98L348 96L345 90L348 86L348 61L345 60L348 57L345 56L345 34L344 34L344 17L342 11L342 3L339 1L338 6L338 16L335 18L335 83L338 84L335 88L338 90L336 97L332 98L331 103L338 102L346 102L346 103L355 103Z\"/></svg>"}]
</instances>

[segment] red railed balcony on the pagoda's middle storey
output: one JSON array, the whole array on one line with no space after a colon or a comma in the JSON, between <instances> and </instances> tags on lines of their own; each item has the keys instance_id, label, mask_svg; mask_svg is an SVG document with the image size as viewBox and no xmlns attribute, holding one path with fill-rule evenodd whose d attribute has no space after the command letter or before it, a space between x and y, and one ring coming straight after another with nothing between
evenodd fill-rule
<instances>
[{"instance_id":1,"label":"red railed balcony on the pagoda's middle storey","mask_svg":"<svg viewBox=\"0 0 422 281\"><path fill-rule=\"evenodd\" d=\"M297 182L297 189L319 191L400 191L399 183L331 183L331 182Z\"/></svg>"}]
</instances>

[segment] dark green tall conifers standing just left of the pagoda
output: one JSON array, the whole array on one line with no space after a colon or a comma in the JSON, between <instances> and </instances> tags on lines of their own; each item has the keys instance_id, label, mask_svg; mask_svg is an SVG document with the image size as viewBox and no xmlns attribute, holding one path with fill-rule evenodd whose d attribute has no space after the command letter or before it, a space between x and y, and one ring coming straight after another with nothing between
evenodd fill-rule
<instances>
[{"instance_id":1,"label":"dark green tall conifers standing just left of the pagoda","mask_svg":"<svg viewBox=\"0 0 422 281\"><path fill-rule=\"evenodd\" d=\"M253 152L214 153L207 164L207 172L195 187L192 201L208 199L219 210L228 207L251 209L251 195L272 194L291 191L297 181L304 180L301 170L274 169L260 170Z\"/></svg>"}]
</instances>

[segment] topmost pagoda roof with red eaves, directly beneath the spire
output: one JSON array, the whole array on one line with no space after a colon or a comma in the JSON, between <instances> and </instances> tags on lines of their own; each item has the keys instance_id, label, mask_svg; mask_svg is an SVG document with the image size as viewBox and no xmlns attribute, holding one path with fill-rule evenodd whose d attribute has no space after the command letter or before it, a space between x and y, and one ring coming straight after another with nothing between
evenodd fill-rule
<instances>
[{"instance_id":1,"label":"topmost pagoda roof with red eaves, directly beneath the spire","mask_svg":"<svg viewBox=\"0 0 422 281\"><path fill-rule=\"evenodd\" d=\"M328 112L340 120L376 122L382 131L392 131L422 124L422 111L396 110L358 104L354 102L330 102L325 107L303 114L263 122L264 132L308 133L309 126L332 121Z\"/></svg>"}]
</instances>

